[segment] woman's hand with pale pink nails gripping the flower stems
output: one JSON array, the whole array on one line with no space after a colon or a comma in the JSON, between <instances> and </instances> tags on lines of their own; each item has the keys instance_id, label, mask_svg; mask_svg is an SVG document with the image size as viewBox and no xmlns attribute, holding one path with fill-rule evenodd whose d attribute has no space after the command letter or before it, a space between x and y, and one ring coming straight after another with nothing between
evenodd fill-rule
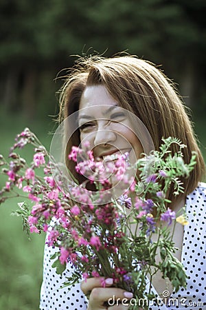
<instances>
[{"instance_id":1,"label":"woman's hand with pale pink nails gripping the flower stems","mask_svg":"<svg viewBox=\"0 0 206 310\"><path fill-rule=\"evenodd\" d=\"M102 287L104 282L105 287ZM82 282L81 288L84 295L89 295L89 305L87 310L124 310L128 309L129 300L133 298L133 293L112 287L112 278L89 278Z\"/></svg>"}]
</instances>

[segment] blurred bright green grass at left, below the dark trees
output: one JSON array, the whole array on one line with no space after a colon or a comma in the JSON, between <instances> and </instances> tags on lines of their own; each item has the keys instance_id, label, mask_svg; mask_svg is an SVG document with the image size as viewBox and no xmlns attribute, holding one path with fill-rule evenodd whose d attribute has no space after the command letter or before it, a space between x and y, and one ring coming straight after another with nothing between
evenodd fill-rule
<instances>
[{"instance_id":1,"label":"blurred bright green grass at left, below the dark trees","mask_svg":"<svg viewBox=\"0 0 206 310\"><path fill-rule=\"evenodd\" d=\"M47 122L30 121L19 115L0 114L1 132L0 154L7 158L9 149L14 143L16 134L24 127L30 126L38 138L48 148L54 124ZM32 147L25 147L21 155L32 161ZM0 188L5 184L6 178L1 175ZM21 218L12 216L18 209L17 203L22 198L8 200L0 205L0 309L8 310L36 310L38 309L40 288L43 274L43 249L45 235L31 235L28 240L23 232Z\"/></svg>"}]
</instances>

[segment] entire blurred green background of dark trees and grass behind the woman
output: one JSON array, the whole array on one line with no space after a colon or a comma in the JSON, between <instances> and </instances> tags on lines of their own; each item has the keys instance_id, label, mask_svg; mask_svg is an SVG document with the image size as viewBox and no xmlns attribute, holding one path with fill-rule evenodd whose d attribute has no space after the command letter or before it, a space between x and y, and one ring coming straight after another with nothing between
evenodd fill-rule
<instances>
[{"instance_id":1,"label":"entire blurred green background of dark trees and grass behind the woman","mask_svg":"<svg viewBox=\"0 0 206 310\"><path fill-rule=\"evenodd\" d=\"M49 147L71 55L127 51L177 83L206 158L205 15L204 0L1 0L0 153L24 127ZM27 240L18 201L0 206L0 310L38 309L45 236Z\"/></svg>"}]
</instances>

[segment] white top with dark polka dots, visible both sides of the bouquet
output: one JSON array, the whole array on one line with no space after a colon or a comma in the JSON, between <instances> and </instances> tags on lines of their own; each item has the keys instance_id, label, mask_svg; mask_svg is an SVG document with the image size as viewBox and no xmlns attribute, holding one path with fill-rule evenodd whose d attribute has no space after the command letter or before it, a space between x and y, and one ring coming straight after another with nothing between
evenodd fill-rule
<instances>
[{"instance_id":1,"label":"white top with dark polka dots, visible both sides of the bouquet","mask_svg":"<svg viewBox=\"0 0 206 310\"><path fill-rule=\"evenodd\" d=\"M205 259L205 215L206 184L201 183L187 196L186 211L189 225L184 227L182 263L187 273L187 288L172 293L168 304L161 300L151 304L149 310L206 310L206 259ZM45 245L43 266L43 284L41 287L41 310L86 310L87 298L80 289L80 284L62 287L67 277L71 276L72 266L68 263L62 276L52 268L54 260L49 258L55 249Z\"/></svg>"}]
</instances>

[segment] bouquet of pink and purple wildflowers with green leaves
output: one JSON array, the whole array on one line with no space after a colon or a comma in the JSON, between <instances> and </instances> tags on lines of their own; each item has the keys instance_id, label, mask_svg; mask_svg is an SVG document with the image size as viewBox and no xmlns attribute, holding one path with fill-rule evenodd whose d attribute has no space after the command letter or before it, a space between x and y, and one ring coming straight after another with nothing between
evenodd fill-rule
<instances>
[{"instance_id":1,"label":"bouquet of pink and purple wildflowers with green leaves","mask_svg":"<svg viewBox=\"0 0 206 310\"><path fill-rule=\"evenodd\" d=\"M170 152L172 143L179 146L174 156ZM27 144L34 145L30 164L17 152ZM174 257L170 225L187 224L187 216L184 210L175 214L167 198L171 185L174 195L183 192L180 178L188 176L196 163L195 154L189 164L183 162L183 147L176 138L163 139L160 151L141 157L135 167L127 154L108 156L103 163L93 158L89 145L84 151L73 147L69 160L76 162L76 171L88 180L81 185L67 180L62 190L65 176L60 167L26 128L16 136L9 161L0 158L1 172L8 176L0 203L13 197L24 200L16 214L22 216L26 231L47 232L47 244L56 247L52 257L56 272L62 273L68 261L75 267L65 285L80 282L82 276L113 278L114 286L133 292L137 303L129 309L145 307L145 299L155 298L152 277L157 271L170 280L175 291L186 282L183 265ZM125 171L132 169L138 173L131 183ZM111 172L113 180L128 185L118 198L113 198ZM96 191L88 191L87 183L95 185Z\"/></svg>"}]
</instances>

